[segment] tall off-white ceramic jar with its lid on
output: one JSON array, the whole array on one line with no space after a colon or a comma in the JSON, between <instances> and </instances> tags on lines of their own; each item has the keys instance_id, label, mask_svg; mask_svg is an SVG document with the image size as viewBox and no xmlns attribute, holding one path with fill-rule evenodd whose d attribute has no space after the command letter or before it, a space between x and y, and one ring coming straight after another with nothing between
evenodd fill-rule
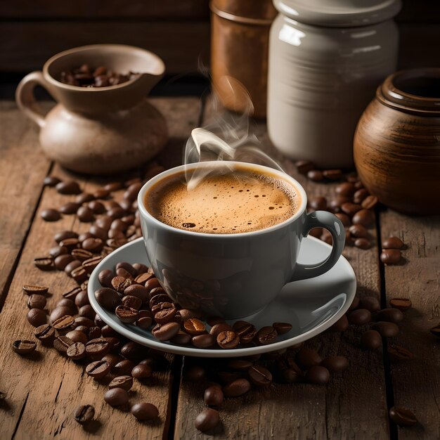
<instances>
[{"instance_id":1,"label":"tall off-white ceramic jar with its lid on","mask_svg":"<svg viewBox=\"0 0 440 440\"><path fill-rule=\"evenodd\" d=\"M356 123L396 70L401 0L273 0L268 134L287 157L353 167Z\"/></svg>"}]
</instances>

